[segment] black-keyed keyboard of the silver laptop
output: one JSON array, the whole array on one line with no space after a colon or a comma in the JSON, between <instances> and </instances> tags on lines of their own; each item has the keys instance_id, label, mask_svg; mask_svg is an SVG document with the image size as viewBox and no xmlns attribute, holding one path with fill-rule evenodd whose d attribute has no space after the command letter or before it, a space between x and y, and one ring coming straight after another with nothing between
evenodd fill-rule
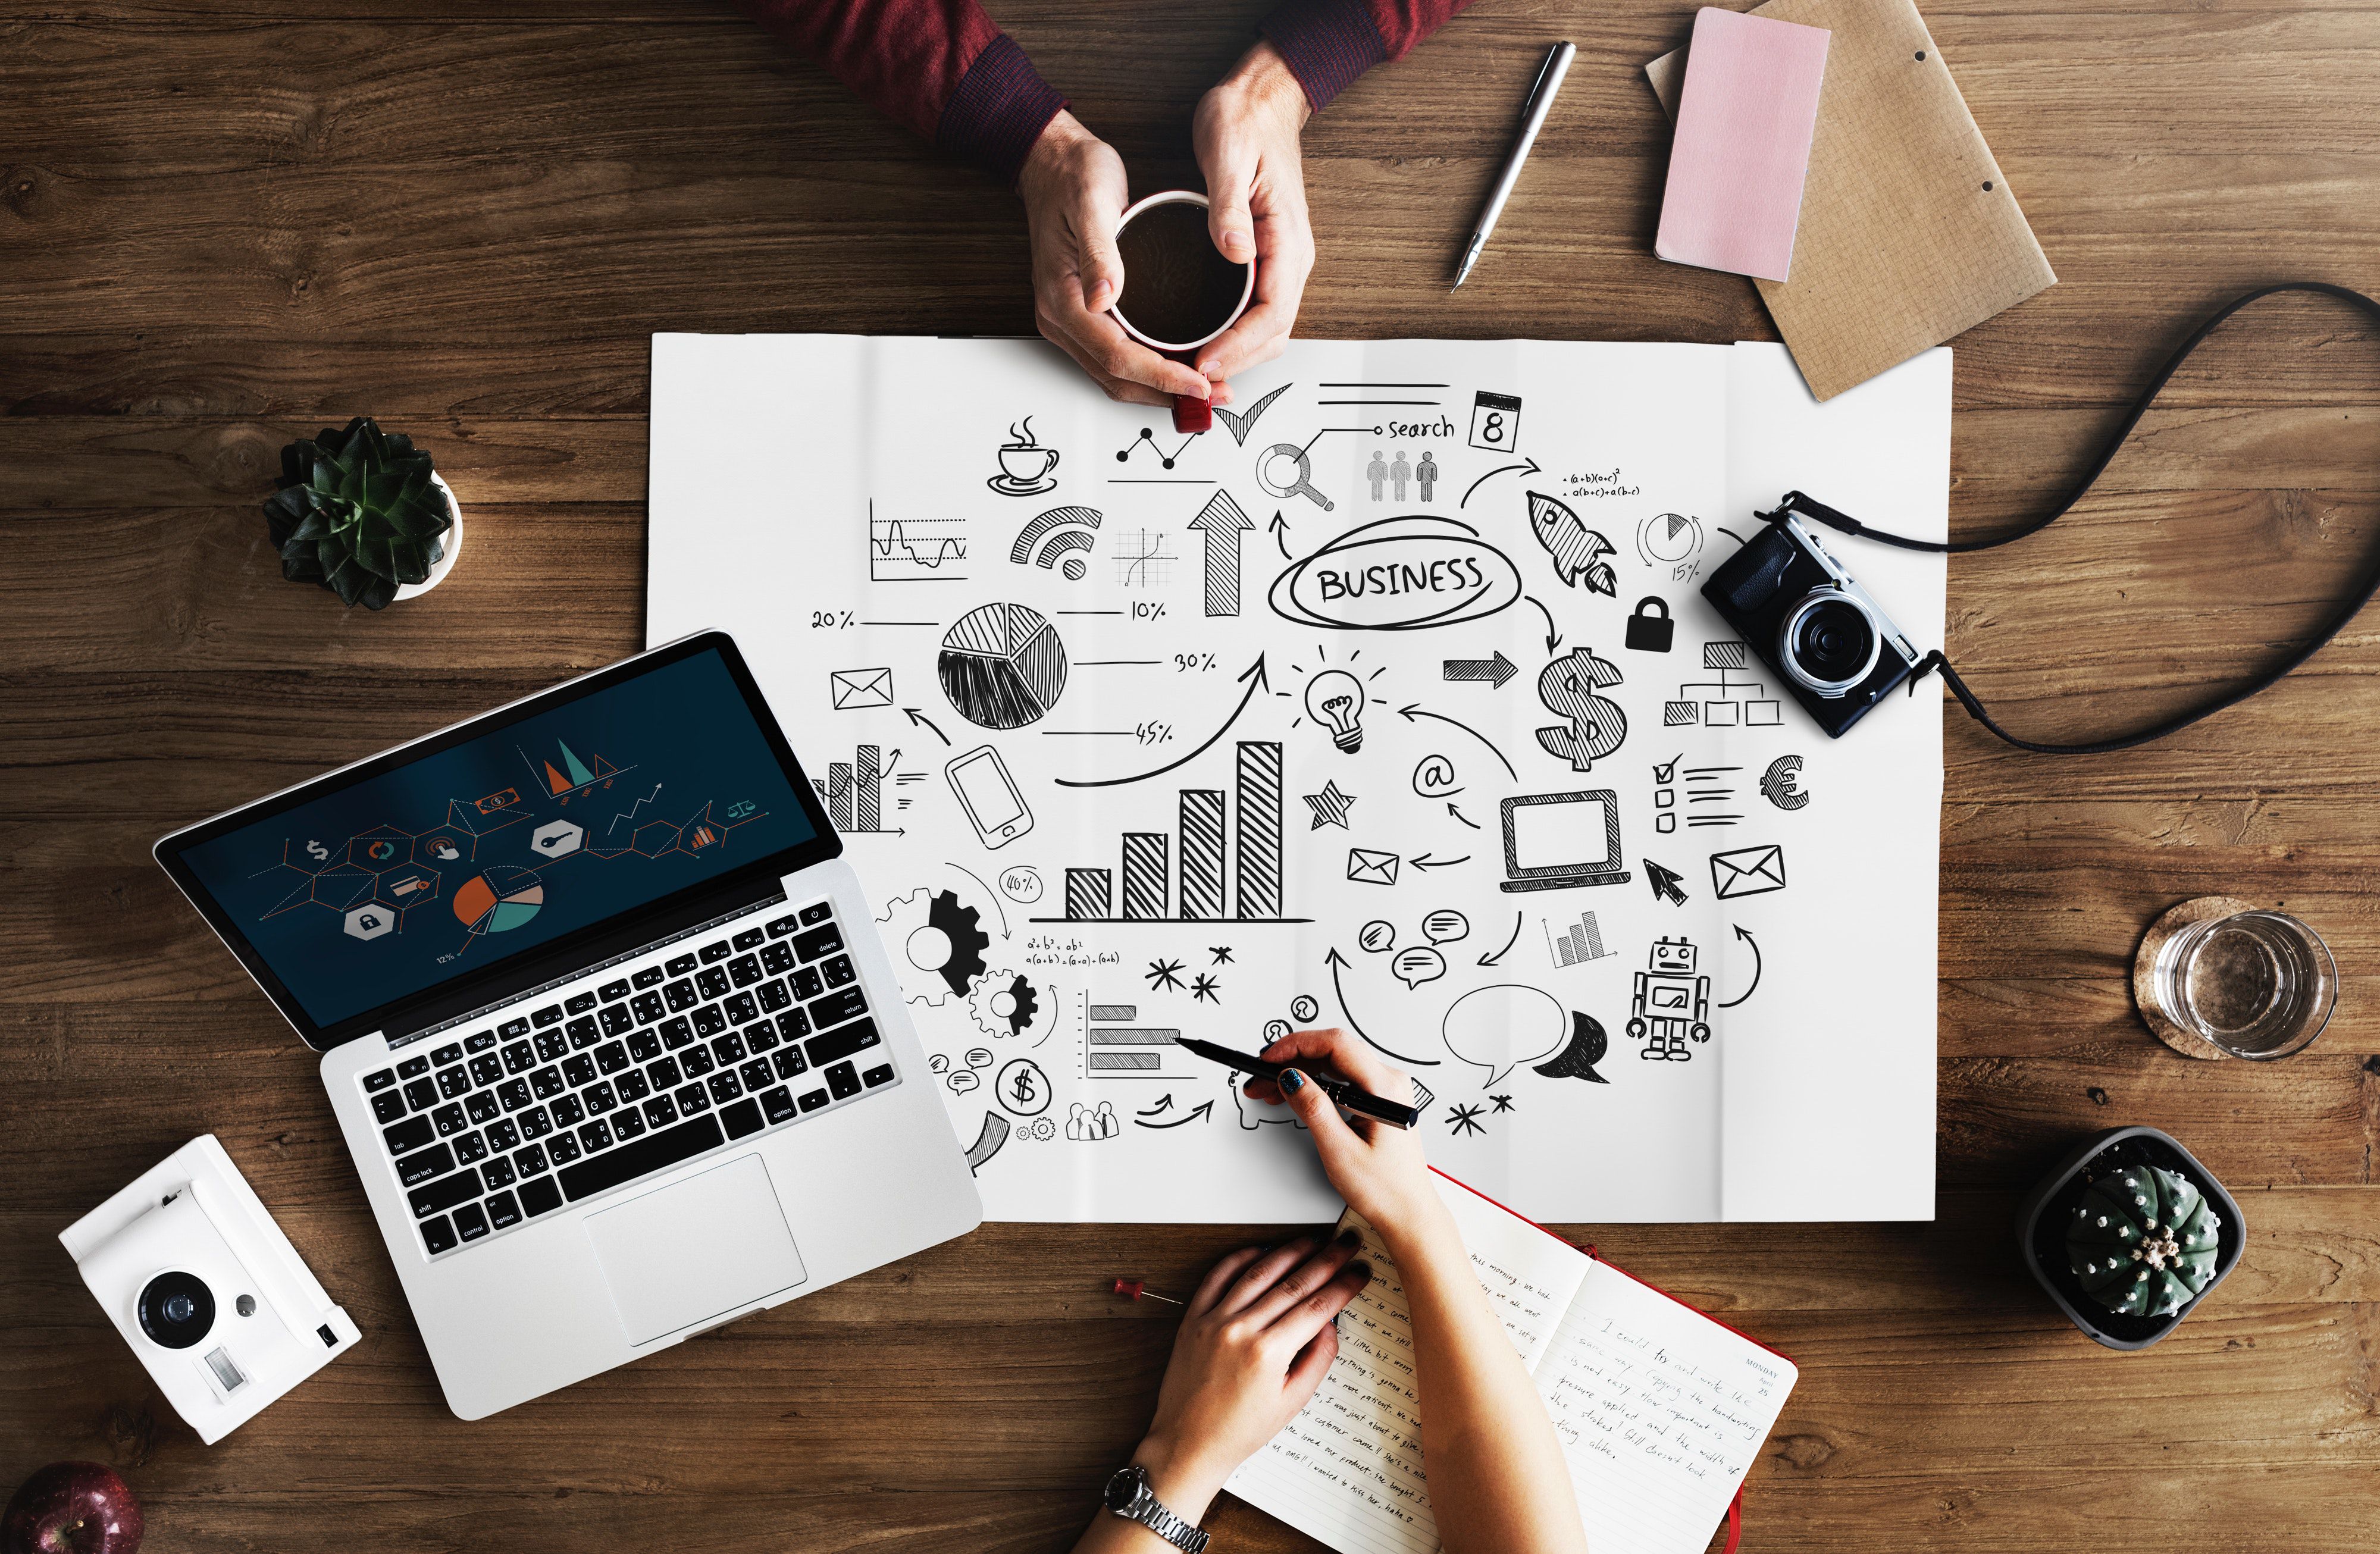
<instances>
[{"instance_id":1,"label":"black-keyed keyboard of the silver laptop","mask_svg":"<svg viewBox=\"0 0 2380 1554\"><path fill-rule=\"evenodd\" d=\"M892 1083L831 902L362 1078L431 1257Z\"/></svg>"}]
</instances>

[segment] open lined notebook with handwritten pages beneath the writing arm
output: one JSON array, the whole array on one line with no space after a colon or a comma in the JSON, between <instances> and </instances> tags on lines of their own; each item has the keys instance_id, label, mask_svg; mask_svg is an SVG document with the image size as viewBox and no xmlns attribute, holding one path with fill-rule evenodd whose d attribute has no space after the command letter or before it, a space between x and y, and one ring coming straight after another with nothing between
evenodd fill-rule
<instances>
[{"instance_id":1,"label":"open lined notebook with handwritten pages beneath the writing arm","mask_svg":"<svg viewBox=\"0 0 2380 1554\"><path fill-rule=\"evenodd\" d=\"M1595 1554L1702 1554L1799 1376L1795 1364L1438 1178L1480 1287L1571 1461ZM1404 1285L1352 1209L1373 1278L1314 1399L1226 1485L1342 1554L1433 1554Z\"/></svg>"}]
</instances>

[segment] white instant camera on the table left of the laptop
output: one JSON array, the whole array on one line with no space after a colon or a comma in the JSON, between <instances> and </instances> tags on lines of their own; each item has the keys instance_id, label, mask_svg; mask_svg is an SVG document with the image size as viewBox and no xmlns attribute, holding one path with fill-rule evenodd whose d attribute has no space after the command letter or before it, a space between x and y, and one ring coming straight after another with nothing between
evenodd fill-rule
<instances>
[{"instance_id":1,"label":"white instant camera on the table left of the laptop","mask_svg":"<svg viewBox=\"0 0 2380 1554\"><path fill-rule=\"evenodd\" d=\"M209 1447L359 1337L212 1133L57 1240Z\"/></svg>"}]
</instances>

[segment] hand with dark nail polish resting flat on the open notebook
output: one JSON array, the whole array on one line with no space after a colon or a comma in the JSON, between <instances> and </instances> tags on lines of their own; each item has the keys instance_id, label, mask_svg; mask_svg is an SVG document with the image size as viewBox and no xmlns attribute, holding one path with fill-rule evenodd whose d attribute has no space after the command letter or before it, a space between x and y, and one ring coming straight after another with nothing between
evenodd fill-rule
<instances>
[{"instance_id":1,"label":"hand with dark nail polish resting flat on the open notebook","mask_svg":"<svg viewBox=\"0 0 2380 1554\"><path fill-rule=\"evenodd\" d=\"M1200 1521L1233 1468L1280 1433L1338 1359L1333 1318L1371 1278L1354 1235L1245 1247L1190 1297L1157 1418L1133 1452L1150 1492ZM1111 1518L1102 1518L1111 1521ZM1085 1540L1090 1547L1090 1540Z\"/></svg>"}]
</instances>

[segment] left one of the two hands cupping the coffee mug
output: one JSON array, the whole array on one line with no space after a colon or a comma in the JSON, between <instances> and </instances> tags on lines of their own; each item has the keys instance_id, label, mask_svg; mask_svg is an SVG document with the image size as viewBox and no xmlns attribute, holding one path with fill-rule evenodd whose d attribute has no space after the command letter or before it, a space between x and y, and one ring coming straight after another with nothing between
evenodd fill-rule
<instances>
[{"instance_id":1,"label":"left one of the two hands cupping the coffee mug","mask_svg":"<svg viewBox=\"0 0 2380 1554\"><path fill-rule=\"evenodd\" d=\"M1059 109L1016 176L1033 238L1033 324L1107 390L1109 400L1171 405L1171 395L1230 405L1207 378L1123 333L1116 217L1128 205L1123 157Z\"/></svg>"}]
</instances>

